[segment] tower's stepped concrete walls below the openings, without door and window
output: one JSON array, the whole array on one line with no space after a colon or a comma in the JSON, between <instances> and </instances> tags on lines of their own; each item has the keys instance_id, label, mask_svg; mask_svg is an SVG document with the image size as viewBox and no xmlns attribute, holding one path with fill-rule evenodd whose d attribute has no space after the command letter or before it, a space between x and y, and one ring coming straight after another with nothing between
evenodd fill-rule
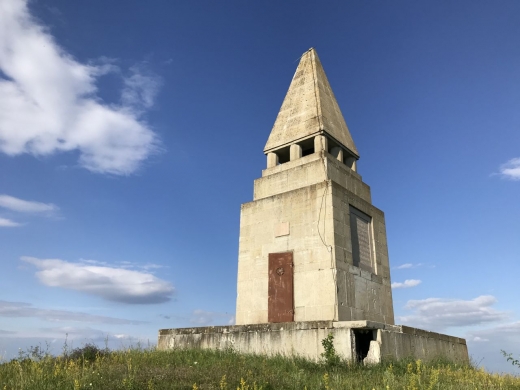
<instances>
[{"instance_id":1,"label":"tower's stepped concrete walls below the openings, without door and window","mask_svg":"<svg viewBox=\"0 0 520 390\"><path fill-rule=\"evenodd\" d=\"M359 174L326 151L314 153L264 170L254 199L241 208L237 324L268 321L268 255L287 251L295 321L393 324L384 215ZM372 272L353 264L349 205L372 217Z\"/></svg>"}]
</instances>

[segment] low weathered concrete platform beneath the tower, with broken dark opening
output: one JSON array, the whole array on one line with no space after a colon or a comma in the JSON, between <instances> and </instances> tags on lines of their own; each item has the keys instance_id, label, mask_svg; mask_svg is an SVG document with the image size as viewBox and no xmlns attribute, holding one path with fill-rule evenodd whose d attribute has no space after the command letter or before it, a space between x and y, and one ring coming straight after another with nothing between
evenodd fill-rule
<instances>
[{"instance_id":1,"label":"low weathered concrete platform beneath the tower, with broken dark opening","mask_svg":"<svg viewBox=\"0 0 520 390\"><path fill-rule=\"evenodd\" d=\"M233 349L259 355L298 355L319 360L322 340L334 336L343 359L378 363L381 359L430 360L444 357L468 362L466 340L373 321L305 321L159 330L157 347L166 349Z\"/></svg>"}]
</instances>

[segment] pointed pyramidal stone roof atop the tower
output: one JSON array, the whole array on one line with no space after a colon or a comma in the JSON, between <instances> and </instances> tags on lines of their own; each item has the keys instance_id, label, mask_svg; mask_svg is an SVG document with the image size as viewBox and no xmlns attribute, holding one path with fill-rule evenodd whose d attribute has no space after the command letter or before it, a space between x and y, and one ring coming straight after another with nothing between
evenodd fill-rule
<instances>
[{"instance_id":1,"label":"pointed pyramidal stone roof atop the tower","mask_svg":"<svg viewBox=\"0 0 520 390\"><path fill-rule=\"evenodd\" d=\"M310 48L300 59L264 153L323 133L359 158L318 54Z\"/></svg>"}]
</instances>

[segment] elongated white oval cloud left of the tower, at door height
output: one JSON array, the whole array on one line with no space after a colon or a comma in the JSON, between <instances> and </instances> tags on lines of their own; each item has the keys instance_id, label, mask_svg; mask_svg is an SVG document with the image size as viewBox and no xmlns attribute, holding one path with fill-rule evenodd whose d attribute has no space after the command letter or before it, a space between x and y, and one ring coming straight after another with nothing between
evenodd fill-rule
<instances>
[{"instance_id":1,"label":"elongated white oval cloud left of the tower, at door height","mask_svg":"<svg viewBox=\"0 0 520 390\"><path fill-rule=\"evenodd\" d=\"M46 286L81 291L123 303L162 303L173 295L173 285L148 272L71 263L60 259L22 257L40 271L36 276Z\"/></svg>"}]
</instances>

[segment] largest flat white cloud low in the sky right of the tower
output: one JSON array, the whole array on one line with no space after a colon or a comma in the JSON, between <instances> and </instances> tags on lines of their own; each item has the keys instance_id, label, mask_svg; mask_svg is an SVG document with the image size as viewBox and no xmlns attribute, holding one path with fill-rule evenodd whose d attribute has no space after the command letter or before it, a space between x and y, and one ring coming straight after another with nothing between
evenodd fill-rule
<instances>
[{"instance_id":1,"label":"largest flat white cloud low in the sky right of the tower","mask_svg":"<svg viewBox=\"0 0 520 390\"><path fill-rule=\"evenodd\" d=\"M493 309L497 302L491 295L482 295L472 300L428 298L410 300L405 308L414 314L399 317L399 321L411 326L430 330L448 327L479 325L507 318L507 313Z\"/></svg>"}]
</instances>

